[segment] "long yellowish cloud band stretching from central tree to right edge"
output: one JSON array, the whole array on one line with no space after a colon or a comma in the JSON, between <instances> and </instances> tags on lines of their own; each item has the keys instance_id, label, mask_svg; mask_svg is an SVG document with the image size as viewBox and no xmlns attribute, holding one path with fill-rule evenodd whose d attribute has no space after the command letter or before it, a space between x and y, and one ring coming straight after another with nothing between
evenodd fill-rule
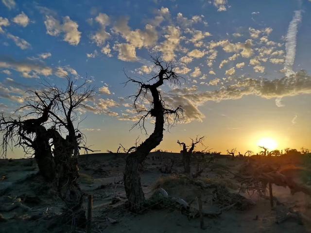
<instances>
[{"instance_id":1,"label":"long yellowish cloud band stretching from central tree to right edge","mask_svg":"<svg viewBox=\"0 0 311 233\"><path fill-rule=\"evenodd\" d=\"M235 84L222 86L215 91L199 92L196 88L175 88L171 93L163 93L163 96L165 100L169 100L168 103L172 104L170 106L176 106L176 104L185 106L185 122L190 122L192 120L202 121L205 116L198 107L207 101L237 100L247 95L274 99L299 94L311 94L311 76L306 71L299 71L290 77L285 76L274 80L237 79Z\"/></svg>"}]
</instances>

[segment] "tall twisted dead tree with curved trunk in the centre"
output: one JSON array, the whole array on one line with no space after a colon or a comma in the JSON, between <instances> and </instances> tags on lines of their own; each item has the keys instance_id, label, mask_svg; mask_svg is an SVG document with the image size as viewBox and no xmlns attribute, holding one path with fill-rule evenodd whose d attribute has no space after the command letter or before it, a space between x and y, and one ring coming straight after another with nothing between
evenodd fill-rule
<instances>
[{"instance_id":1,"label":"tall twisted dead tree with curved trunk in the centre","mask_svg":"<svg viewBox=\"0 0 311 233\"><path fill-rule=\"evenodd\" d=\"M124 171L124 187L126 196L129 202L130 210L134 212L139 212L141 210L142 203L145 201L144 193L142 191L140 176L139 176L139 165L145 160L147 155L151 150L160 144L163 138L163 130L165 121L169 123L169 116L174 115L173 123L179 119L179 113L182 112L180 106L176 109L167 109L164 100L161 98L160 91L158 88L163 85L165 81L168 81L171 85L180 84L180 77L174 72L174 67L172 63L166 63L159 60L158 58L153 58L155 68L158 69L158 73L155 74L146 83L142 81L134 80L127 76L129 82L138 85L138 93L133 95L134 107L138 115L142 115L138 122L133 125L139 126L140 129L145 129L145 120L147 117L155 118L155 127L153 133L142 142L140 145L135 146L131 150L128 150L129 155L126 158L126 165ZM148 100L148 95L150 95L150 108L149 109L139 109L138 101ZM170 123L169 123L170 124ZM147 132L146 132L147 133Z\"/></svg>"}]
</instances>

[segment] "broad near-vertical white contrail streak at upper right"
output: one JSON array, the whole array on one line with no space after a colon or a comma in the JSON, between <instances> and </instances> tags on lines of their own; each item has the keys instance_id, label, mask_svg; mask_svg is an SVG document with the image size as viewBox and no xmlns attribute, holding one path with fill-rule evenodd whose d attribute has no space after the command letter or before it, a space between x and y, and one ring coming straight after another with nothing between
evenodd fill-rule
<instances>
[{"instance_id":1,"label":"broad near-vertical white contrail streak at upper right","mask_svg":"<svg viewBox=\"0 0 311 233\"><path fill-rule=\"evenodd\" d=\"M286 35L286 43L285 43L286 57L284 66L284 69L286 70L286 76L289 76L294 73L293 65L296 55L296 43L297 43L296 36L298 31L298 25L302 19L301 10L294 11L294 13L295 13L294 17L290 22Z\"/></svg>"}]
</instances>

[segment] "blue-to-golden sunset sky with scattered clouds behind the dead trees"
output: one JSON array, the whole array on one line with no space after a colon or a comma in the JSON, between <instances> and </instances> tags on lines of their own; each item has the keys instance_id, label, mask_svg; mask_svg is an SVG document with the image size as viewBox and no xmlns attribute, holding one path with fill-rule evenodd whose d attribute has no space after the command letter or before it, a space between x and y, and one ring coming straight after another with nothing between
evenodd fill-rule
<instances>
[{"instance_id":1,"label":"blue-to-golden sunset sky with scattered clouds behind the dead trees","mask_svg":"<svg viewBox=\"0 0 311 233\"><path fill-rule=\"evenodd\" d=\"M131 147L146 135L130 131L137 86L124 86L124 72L148 80L159 56L184 78L161 87L184 115L156 149L179 151L177 140L196 135L222 153L258 152L262 138L311 148L310 12L310 0L1 0L0 112L13 114L40 83L87 77L96 95L78 115L88 145Z\"/></svg>"}]
</instances>

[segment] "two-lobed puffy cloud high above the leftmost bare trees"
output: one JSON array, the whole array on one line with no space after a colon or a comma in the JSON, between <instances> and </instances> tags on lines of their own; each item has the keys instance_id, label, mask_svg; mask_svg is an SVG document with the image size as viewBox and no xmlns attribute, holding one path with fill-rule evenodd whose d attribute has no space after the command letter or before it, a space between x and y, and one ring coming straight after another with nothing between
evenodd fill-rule
<instances>
[{"instance_id":1,"label":"two-lobed puffy cloud high above the leftmost bare trees","mask_svg":"<svg viewBox=\"0 0 311 233\"><path fill-rule=\"evenodd\" d=\"M63 24L52 16L46 16L44 24L49 35L58 36L60 33L64 33L64 41L70 45L80 43L81 32L78 31L79 25L71 20L69 16L63 18Z\"/></svg>"}]
</instances>

